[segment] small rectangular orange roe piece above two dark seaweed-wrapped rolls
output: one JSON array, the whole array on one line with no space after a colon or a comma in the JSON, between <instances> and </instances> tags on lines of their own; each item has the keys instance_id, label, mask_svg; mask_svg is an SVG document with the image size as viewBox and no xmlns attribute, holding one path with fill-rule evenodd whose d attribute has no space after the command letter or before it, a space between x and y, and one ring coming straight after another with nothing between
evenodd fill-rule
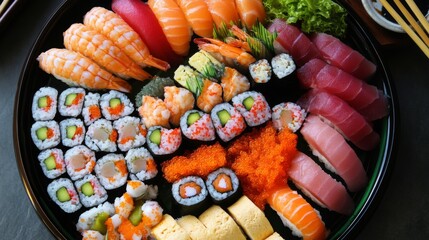
<instances>
[{"instance_id":1,"label":"small rectangular orange roe piece above two dark seaweed-wrapped rolls","mask_svg":"<svg viewBox=\"0 0 429 240\"><path fill-rule=\"evenodd\" d=\"M201 146L187 156L176 156L163 162L162 171L167 181L174 182L191 175L205 177L226 164L226 151L216 143Z\"/></svg>"}]
</instances>

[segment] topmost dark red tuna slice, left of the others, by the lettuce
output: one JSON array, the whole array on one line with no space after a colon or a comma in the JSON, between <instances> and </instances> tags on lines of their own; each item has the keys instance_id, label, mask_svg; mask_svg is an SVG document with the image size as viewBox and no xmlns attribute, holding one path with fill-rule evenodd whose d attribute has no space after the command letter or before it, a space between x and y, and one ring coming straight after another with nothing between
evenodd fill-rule
<instances>
[{"instance_id":1,"label":"topmost dark red tuna slice, left of the others, by the lettuce","mask_svg":"<svg viewBox=\"0 0 429 240\"><path fill-rule=\"evenodd\" d=\"M321 58L319 50L299 28L275 19L269 26L270 32L278 33L274 45L277 52L292 55L298 66L302 66L313 58Z\"/></svg>"}]
</instances>

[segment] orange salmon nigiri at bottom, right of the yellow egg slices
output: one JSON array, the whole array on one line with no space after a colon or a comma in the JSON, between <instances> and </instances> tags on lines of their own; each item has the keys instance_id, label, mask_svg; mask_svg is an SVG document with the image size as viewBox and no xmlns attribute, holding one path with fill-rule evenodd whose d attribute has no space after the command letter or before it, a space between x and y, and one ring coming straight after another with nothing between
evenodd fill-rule
<instances>
[{"instance_id":1,"label":"orange salmon nigiri at bottom, right of the yellow egg slices","mask_svg":"<svg viewBox=\"0 0 429 240\"><path fill-rule=\"evenodd\" d=\"M294 235L304 240L326 238L325 224L318 212L288 186L273 192L268 203Z\"/></svg>"}]
</instances>

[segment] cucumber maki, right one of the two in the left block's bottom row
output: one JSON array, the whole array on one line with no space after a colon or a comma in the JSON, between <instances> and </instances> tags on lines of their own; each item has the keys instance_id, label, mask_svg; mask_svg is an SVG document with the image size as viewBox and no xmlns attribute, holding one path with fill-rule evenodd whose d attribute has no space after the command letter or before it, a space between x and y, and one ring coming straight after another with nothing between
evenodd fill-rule
<instances>
[{"instance_id":1,"label":"cucumber maki, right one of the two in the left block's bottom row","mask_svg":"<svg viewBox=\"0 0 429 240\"><path fill-rule=\"evenodd\" d=\"M107 200L107 192L98 179L88 174L75 182L80 201L85 207L94 207Z\"/></svg>"}]
</instances>

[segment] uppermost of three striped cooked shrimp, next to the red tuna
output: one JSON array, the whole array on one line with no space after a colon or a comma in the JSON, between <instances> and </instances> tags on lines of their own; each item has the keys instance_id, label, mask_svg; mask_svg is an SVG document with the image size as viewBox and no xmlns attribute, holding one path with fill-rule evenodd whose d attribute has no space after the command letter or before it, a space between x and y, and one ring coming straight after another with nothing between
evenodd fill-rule
<instances>
[{"instance_id":1,"label":"uppermost of three striped cooked shrimp, next to the red tuna","mask_svg":"<svg viewBox=\"0 0 429 240\"><path fill-rule=\"evenodd\" d=\"M85 14L83 23L112 40L139 66L151 66L163 71L170 65L150 55L144 41L119 15L102 7L94 7Z\"/></svg>"}]
</instances>

